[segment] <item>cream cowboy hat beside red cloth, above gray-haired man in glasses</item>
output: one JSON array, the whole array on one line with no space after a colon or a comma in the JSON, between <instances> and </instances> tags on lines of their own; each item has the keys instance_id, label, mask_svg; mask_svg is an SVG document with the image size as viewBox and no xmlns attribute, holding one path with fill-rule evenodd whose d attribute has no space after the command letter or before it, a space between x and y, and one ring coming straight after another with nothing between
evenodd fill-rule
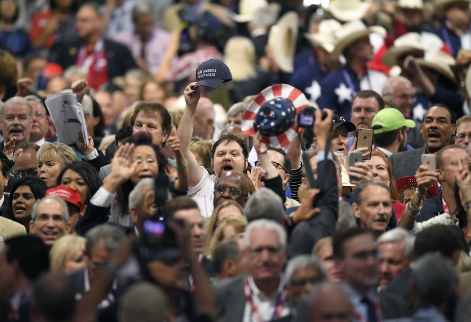
<instances>
[{"instance_id":1,"label":"cream cowboy hat beside red cloth, above gray-haired man in glasses","mask_svg":"<svg viewBox=\"0 0 471 322\"><path fill-rule=\"evenodd\" d=\"M417 32L408 32L394 40L394 45L383 56L383 64L392 67L397 65L399 57L407 54L423 57L423 53L420 35Z\"/></svg>"}]
</instances>

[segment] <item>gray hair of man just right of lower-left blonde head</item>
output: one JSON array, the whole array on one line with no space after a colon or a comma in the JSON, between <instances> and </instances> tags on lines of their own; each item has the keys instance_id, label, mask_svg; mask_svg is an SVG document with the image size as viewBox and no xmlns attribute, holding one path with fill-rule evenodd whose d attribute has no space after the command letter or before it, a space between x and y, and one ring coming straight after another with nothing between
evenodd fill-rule
<instances>
[{"instance_id":1,"label":"gray hair of man just right of lower-left blonde head","mask_svg":"<svg viewBox=\"0 0 471 322\"><path fill-rule=\"evenodd\" d=\"M117 226L110 224L101 224L90 229L85 235L85 250L88 255L91 254L92 248L98 244L110 252L114 252L118 249L121 241L126 237L124 232L121 231Z\"/></svg>"}]
</instances>

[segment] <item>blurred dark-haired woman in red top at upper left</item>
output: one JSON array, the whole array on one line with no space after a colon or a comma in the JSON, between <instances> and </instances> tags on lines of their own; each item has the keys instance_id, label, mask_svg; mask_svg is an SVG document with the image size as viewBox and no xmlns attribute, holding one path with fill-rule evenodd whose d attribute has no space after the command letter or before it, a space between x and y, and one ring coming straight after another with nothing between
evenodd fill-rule
<instances>
[{"instance_id":1,"label":"blurred dark-haired woman in red top at upper left","mask_svg":"<svg viewBox=\"0 0 471 322\"><path fill-rule=\"evenodd\" d=\"M51 0L50 9L38 12L31 22L29 36L34 48L52 49L76 36L75 0Z\"/></svg>"}]
</instances>

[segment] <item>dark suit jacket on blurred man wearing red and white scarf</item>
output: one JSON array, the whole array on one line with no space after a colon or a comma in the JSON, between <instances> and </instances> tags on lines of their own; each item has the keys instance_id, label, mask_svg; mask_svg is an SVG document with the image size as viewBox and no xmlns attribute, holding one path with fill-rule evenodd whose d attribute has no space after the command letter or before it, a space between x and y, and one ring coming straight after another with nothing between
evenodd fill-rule
<instances>
[{"instance_id":1,"label":"dark suit jacket on blurred man wearing red and white scarf","mask_svg":"<svg viewBox=\"0 0 471 322\"><path fill-rule=\"evenodd\" d=\"M75 65L81 44L79 39L62 44L53 52L52 61L64 69ZM109 79L122 76L127 71L137 68L131 51L125 45L105 39L105 51Z\"/></svg>"}]
</instances>

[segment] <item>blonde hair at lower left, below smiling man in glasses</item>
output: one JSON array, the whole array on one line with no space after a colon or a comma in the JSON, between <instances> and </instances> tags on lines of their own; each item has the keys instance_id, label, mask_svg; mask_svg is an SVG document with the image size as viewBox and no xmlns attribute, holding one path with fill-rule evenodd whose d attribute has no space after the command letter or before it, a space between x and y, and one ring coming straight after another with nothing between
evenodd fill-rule
<instances>
[{"instance_id":1,"label":"blonde hair at lower left, below smiling man in glasses","mask_svg":"<svg viewBox=\"0 0 471 322\"><path fill-rule=\"evenodd\" d=\"M76 235L66 235L59 238L49 252L51 272L64 274L67 258L79 250L85 250L85 238Z\"/></svg>"}]
</instances>

